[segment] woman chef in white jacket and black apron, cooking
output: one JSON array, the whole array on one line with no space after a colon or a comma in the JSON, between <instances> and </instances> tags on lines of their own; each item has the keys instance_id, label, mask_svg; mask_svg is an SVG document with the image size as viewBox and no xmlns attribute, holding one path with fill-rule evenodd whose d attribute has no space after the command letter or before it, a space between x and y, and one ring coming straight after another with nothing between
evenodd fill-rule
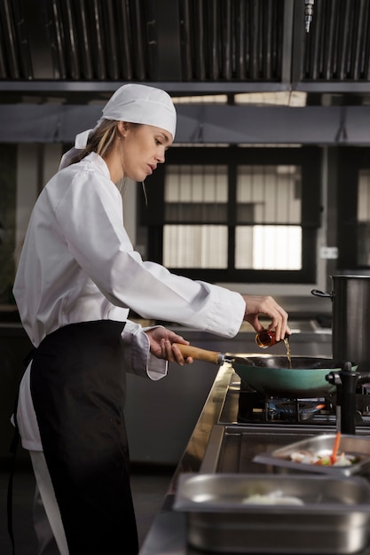
<instances>
[{"instance_id":1,"label":"woman chef in white jacket and black apron, cooking","mask_svg":"<svg viewBox=\"0 0 370 555\"><path fill-rule=\"evenodd\" d=\"M116 90L43 188L20 255L13 293L35 352L17 423L62 555L138 552L125 372L161 379L168 362L193 362L173 345L187 341L130 322L129 309L224 337L243 320L259 332L264 314L277 337L289 333L272 297L171 274L131 245L120 184L151 175L175 130L166 92L138 84Z\"/></svg>"}]
</instances>

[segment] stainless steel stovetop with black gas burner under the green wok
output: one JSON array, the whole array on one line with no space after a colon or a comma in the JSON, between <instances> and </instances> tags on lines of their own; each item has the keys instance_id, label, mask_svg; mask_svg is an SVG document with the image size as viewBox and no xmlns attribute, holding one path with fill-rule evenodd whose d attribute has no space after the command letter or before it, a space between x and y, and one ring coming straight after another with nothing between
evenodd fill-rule
<instances>
[{"instance_id":1,"label":"stainless steel stovetop with black gas burner under the green wok","mask_svg":"<svg viewBox=\"0 0 370 555\"><path fill-rule=\"evenodd\" d=\"M239 376L232 374L230 385L224 399L218 422L212 428L205 456L201 464L201 473L240 473L271 474L300 473L299 470L276 468L273 465L256 463L254 458L262 452L273 451L289 443L309 439L316 434L333 433L336 430L335 406L327 406L313 414L307 415L307 406L321 405L325 399L287 401L287 405L303 407L303 421L296 421L295 415L286 414L279 407L276 399L264 399L251 392L240 392ZM365 396L365 401L364 397ZM361 414L358 413L356 434L367 437L370 441L370 420L368 418L366 395L360 394ZM248 402L243 397L249 397ZM240 400L241 398L241 400ZM369 396L370 400L370 396ZM304 403L303 403L304 401ZM329 403L330 404L330 403ZM246 406L247 405L247 406ZM250 410L250 405L254 410ZM284 406L284 403L283 403ZM276 410L273 410L276 409ZM246 412L247 410L247 412ZM304 412L303 410L303 412ZM301 414L300 417L303 415ZM264 419L267 419L265 421ZM243 420L249 420L248 422ZM370 476L365 476L370 479ZM188 551L190 553L193 551ZM195 553L196 551L194 551ZM369 546L358 555L370 555Z\"/></svg>"}]
</instances>

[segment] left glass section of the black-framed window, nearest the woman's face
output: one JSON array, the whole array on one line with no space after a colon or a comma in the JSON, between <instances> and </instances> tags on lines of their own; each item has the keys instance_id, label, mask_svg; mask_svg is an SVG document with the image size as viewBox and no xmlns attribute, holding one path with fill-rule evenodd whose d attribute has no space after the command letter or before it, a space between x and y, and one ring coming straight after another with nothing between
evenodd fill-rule
<instances>
[{"instance_id":1,"label":"left glass section of the black-framed window, nearest the woman's face","mask_svg":"<svg viewBox=\"0 0 370 555\"><path fill-rule=\"evenodd\" d=\"M227 200L226 165L172 165L166 169L166 267L227 268Z\"/></svg>"}]
</instances>

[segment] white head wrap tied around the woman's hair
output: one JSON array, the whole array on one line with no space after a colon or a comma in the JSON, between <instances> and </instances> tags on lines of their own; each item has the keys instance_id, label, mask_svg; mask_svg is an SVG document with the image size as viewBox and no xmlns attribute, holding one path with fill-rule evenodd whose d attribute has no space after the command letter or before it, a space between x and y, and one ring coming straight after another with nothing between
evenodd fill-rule
<instances>
[{"instance_id":1,"label":"white head wrap tied around the woman's hair","mask_svg":"<svg viewBox=\"0 0 370 555\"><path fill-rule=\"evenodd\" d=\"M144 123L169 131L172 138L176 132L176 110L169 94L161 89L129 83L116 90L103 108L103 115L93 129L86 129L75 137L75 147L60 160L59 169L65 168L78 150L84 149L88 139L104 120Z\"/></svg>"}]
</instances>

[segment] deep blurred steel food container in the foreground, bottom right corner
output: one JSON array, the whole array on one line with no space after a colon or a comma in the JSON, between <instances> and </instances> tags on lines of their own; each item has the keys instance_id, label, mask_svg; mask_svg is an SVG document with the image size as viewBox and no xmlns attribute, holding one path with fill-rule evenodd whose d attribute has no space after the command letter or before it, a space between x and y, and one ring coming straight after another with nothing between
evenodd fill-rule
<instances>
[{"instance_id":1,"label":"deep blurred steel food container in the foreground, bottom right corner","mask_svg":"<svg viewBox=\"0 0 370 555\"><path fill-rule=\"evenodd\" d=\"M264 503L248 502L258 497ZM174 510L185 512L187 542L203 551L356 553L368 538L370 485L316 474L181 474Z\"/></svg>"}]
</instances>

